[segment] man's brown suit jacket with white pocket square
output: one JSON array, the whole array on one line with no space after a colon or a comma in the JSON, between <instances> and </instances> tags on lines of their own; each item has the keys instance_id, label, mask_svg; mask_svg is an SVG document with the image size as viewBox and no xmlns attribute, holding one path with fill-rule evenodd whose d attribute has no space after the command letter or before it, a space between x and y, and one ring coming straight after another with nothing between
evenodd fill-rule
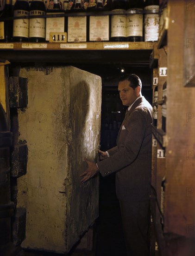
<instances>
[{"instance_id":1,"label":"man's brown suit jacket with white pocket square","mask_svg":"<svg viewBox=\"0 0 195 256\"><path fill-rule=\"evenodd\" d=\"M126 112L110 157L98 163L102 176L116 172L116 195L121 201L142 201L150 197L152 107L145 97Z\"/></svg>"}]
</instances>

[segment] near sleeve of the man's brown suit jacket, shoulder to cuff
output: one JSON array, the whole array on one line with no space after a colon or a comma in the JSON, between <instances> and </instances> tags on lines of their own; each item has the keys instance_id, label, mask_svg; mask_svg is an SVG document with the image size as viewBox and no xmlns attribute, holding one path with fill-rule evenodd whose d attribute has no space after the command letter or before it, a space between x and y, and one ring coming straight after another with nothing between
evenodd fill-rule
<instances>
[{"instance_id":1,"label":"near sleeve of the man's brown suit jacket, shoulder to cuff","mask_svg":"<svg viewBox=\"0 0 195 256\"><path fill-rule=\"evenodd\" d=\"M139 111L134 111L124 126L125 129L120 131L118 145L111 151L110 157L98 163L102 176L125 168L138 156L147 129L145 116ZM108 152L110 154L110 151Z\"/></svg>"}]
</instances>

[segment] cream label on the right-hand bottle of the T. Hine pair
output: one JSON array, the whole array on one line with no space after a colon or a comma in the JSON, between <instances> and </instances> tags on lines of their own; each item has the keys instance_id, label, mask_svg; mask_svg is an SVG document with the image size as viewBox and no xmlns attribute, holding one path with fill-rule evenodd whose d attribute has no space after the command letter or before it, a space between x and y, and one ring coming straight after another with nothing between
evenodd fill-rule
<instances>
[{"instance_id":1,"label":"cream label on the right-hand bottle of the T. Hine pair","mask_svg":"<svg viewBox=\"0 0 195 256\"><path fill-rule=\"evenodd\" d=\"M126 16L126 36L143 36L142 14L128 14Z\"/></svg>"}]
</instances>

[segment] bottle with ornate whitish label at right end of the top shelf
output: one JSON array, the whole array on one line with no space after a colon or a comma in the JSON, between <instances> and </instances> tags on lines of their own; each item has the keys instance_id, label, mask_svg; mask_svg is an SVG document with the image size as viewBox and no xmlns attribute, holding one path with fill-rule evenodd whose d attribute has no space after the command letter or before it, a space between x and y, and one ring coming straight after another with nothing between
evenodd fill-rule
<instances>
[{"instance_id":1,"label":"bottle with ornate whitish label at right end of the top shelf","mask_svg":"<svg viewBox=\"0 0 195 256\"><path fill-rule=\"evenodd\" d=\"M145 1L145 41L158 40L159 0Z\"/></svg>"}]
</instances>

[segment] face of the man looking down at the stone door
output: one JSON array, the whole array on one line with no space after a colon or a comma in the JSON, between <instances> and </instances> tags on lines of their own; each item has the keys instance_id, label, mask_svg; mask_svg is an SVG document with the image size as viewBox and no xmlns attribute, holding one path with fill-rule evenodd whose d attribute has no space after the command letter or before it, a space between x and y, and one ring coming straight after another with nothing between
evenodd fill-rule
<instances>
[{"instance_id":1,"label":"face of the man looking down at the stone door","mask_svg":"<svg viewBox=\"0 0 195 256\"><path fill-rule=\"evenodd\" d=\"M118 91L124 106L131 106L138 97L137 88L133 90L133 88L130 87L130 82L128 80L119 82Z\"/></svg>"}]
</instances>

